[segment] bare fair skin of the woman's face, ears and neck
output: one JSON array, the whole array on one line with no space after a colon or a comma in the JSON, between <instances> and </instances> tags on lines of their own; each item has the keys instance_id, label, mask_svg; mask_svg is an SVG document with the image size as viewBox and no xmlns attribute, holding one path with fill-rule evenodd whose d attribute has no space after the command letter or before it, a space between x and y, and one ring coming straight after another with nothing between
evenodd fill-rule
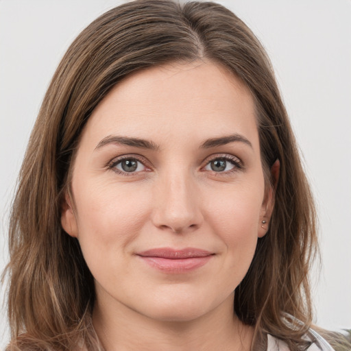
<instances>
[{"instance_id":1,"label":"bare fair skin of the woman's face, ears and neck","mask_svg":"<svg viewBox=\"0 0 351 351\"><path fill-rule=\"evenodd\" d=\"M249 143L200 147L234 133ZM112 135L158 149L101 145ZM123 172L119 156L138 157L138 168ZM237 163L213 170L226 156ZM93 324L106 351L250 350L253 331L233 313L234 289L267 232L273 200L254 101L237 77L203 61L128 77L84 127L71 189L62 226L79 240L95 278ZM136 256L155 247L197 247L213 256L169 274Z\"/></svg>"}]
</instances>

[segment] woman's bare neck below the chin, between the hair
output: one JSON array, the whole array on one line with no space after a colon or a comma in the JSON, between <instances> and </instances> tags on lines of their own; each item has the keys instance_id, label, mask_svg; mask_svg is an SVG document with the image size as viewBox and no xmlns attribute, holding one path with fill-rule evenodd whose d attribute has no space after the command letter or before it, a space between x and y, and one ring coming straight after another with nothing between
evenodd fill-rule
<instances>
[{"instance_id":1,"label":"woman's bare neck below the chin, between the hair","mask_svg":"<svg viewBox=\"0 0 351 351\"><path fill-rule=\"evenodd\" d=\"M213 311L191 320L149 318L123 304L96 302L93 325L106 351L249 351L253 328L233 312L234 296ZM113 307L112 307L113 306Z\"/></svg>"}]
</instances>

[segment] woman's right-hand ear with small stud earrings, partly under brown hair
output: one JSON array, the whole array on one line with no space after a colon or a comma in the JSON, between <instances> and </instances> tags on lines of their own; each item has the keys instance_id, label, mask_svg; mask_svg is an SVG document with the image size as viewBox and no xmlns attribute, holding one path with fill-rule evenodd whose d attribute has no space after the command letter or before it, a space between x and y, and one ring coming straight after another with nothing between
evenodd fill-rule
<instances>
[{"instance_id":1,"label":"woman's right-hand ear with small stud earrings, partly under brown hair","mask_svg":"<svg viewBox=\"0 0 351 351\"><path fill-rule=\"evenodd\" d=\"M276 193L276 187L279 180L280 173L280 161L274 162L270 169L271 172L271 184L267 185L265 190L265 199L263 200L261 207L260 223L258 223L258 237L262 238L267 234L269 229L269 221L271 220L271 214L274 208L274 194Z\"/></svg>"}]
</instances>

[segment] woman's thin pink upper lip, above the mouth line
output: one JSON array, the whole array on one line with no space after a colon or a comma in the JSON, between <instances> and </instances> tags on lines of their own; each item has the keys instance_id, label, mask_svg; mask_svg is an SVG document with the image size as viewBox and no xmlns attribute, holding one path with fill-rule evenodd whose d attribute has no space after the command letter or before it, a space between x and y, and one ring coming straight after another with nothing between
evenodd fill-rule
<instances>
[{"instance_id":1,"label":"woman's thin pink upper lip, above the mouth line","mask_svg":"<svg viewBox=\"0 0 351 351\"><path fill-rule=\"evenodd\" d=\"M213 252L197 249L195 247L186 247L180 250L175 250L171 247L158 247L155 249L138 252L137 255L143 257L160 257L176 260L181 258L206 257L213 255Z\"/></svg>"}]
</instances>

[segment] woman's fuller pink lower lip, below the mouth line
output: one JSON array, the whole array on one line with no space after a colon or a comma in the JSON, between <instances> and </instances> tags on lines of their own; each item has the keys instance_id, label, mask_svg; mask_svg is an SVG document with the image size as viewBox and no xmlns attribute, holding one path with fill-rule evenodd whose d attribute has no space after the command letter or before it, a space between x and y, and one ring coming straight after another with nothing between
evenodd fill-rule
<instances>
[{"instance_id":1,"label":"woman's fuller pink lower lip, below the mouth line","mask_svg":"<svg viewBox=\"0 0 351 351\"><path fill-rule=\"evenodd\" d=\"M165 273L186 273L189 271L193 271L199 267L202 267L210 261L213 255L204 256L204 257L189 257L189 258L162 258L162 257L145 257L138 256L145 263L159 269L160 271L164 271Z\"/></svg>"}]
</instances>

